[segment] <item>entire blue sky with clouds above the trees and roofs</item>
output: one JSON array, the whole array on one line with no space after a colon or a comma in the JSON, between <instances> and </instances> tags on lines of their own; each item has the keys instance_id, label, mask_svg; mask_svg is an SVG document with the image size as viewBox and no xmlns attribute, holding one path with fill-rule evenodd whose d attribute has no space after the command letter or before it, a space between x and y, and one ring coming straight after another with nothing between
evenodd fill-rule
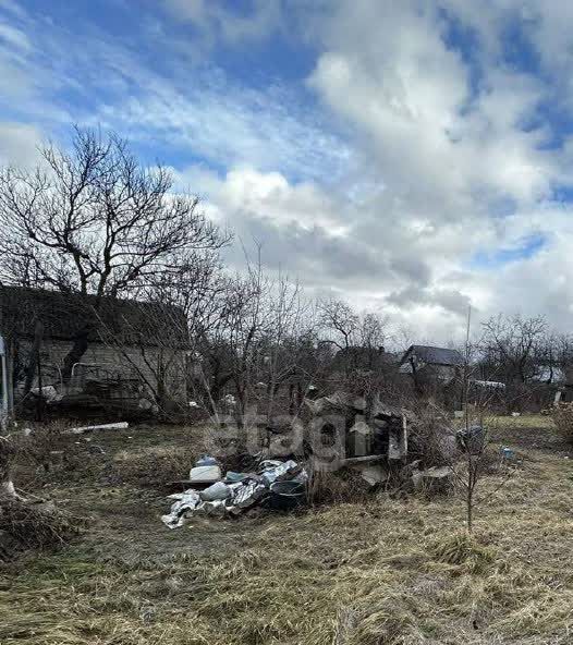
<instances>
[{"instance_id":1,"label":"entire blue sky with clouds above the trees and roofs","mask_svg":"<svg viewBox=\"0 0 573 645\"><path fill-rule=\"evenodd\" d=\"M573 4L0 0L0 163L73 124L309 293L447 340L573 317Z\"/></svg>"}]
</instances>

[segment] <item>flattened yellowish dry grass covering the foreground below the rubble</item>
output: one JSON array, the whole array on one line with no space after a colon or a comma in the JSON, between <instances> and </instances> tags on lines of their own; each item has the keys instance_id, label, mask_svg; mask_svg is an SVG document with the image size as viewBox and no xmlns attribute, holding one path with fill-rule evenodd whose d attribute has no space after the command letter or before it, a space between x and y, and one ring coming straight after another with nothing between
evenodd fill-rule
<instances>
[{"instance_id":1,"label":"flattened yellowish dry grass covering the foreground below the rubble","mask_svg":"<svg viewBox=\"0 0 573 645\"><path fill-rule=\"evenodd\" d=\"M154 510L130 532L121 525L127 560L106 516L89 548L3 572L0 643L571 643L571 476L563 455L532 452L499 490L486 477L475 536L454 497L380 496L175 532ZM124 503L110 513L129 513Z\"/></svg>"}]
</instances>

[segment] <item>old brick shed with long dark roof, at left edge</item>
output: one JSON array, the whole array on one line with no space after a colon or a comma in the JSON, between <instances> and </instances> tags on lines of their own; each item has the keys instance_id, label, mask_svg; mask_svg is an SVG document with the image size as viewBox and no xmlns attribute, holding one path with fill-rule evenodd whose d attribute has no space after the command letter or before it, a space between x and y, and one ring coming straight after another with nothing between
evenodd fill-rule
<instances>
[{"instance_id":1,"label":"old brick shed with long dark roof, at left edge","mask_svg":"<svg viewBox=\"0 0 573 645\"><path fill-rule=\"evenodd\" d=\"M185 394L186 321L176 307L3 287L0 313L5 387L16 402L42 393L151 406Z\"/></svg>"}]
</instances>

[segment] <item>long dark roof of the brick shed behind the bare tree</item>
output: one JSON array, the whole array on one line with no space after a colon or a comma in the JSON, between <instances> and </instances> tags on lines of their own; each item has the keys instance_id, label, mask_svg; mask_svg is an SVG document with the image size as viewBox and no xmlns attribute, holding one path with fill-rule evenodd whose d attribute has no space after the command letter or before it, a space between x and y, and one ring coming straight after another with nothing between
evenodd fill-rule
<instances>
[{"instance_id":1,"label":"long dark roof of the brick shed behind the bare tree","mask_svg":"<svg viewBox=\"0 0 573 645\"><path fill-rule=\"evenodd\" d=\"M97 306L97 309L96 309ZM36 320L44 338L71 341L90 325L90 342L106 338L127 345L183 346L186 320L178 307L154 302L64 293L24 287L0 288L0 330L4 336L33 338Z\"/></svg>"}]
</instances>

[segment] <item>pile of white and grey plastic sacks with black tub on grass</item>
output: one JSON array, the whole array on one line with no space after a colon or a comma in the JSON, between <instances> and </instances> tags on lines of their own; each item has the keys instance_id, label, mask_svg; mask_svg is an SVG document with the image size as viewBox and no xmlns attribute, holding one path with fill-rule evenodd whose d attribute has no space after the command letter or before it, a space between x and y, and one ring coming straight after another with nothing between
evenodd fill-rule
<instances>
[{"instance_id":1,"label":"pile of white and grey plastic sacks with black tub on grass","mask_svg":"<svg viewBox=\"0 0 573 645\"><path fill-rule=\"evenodd\" d=\"M176 528L197 515L233 516L255 506L294 508L306 498L307 480L306 471L293 460L265 460L256 473L229 471L223 477L217 460L204 457L191 468L193 487L169 496L175 502L161 520Z\"/></svg>"}]
</instances>

